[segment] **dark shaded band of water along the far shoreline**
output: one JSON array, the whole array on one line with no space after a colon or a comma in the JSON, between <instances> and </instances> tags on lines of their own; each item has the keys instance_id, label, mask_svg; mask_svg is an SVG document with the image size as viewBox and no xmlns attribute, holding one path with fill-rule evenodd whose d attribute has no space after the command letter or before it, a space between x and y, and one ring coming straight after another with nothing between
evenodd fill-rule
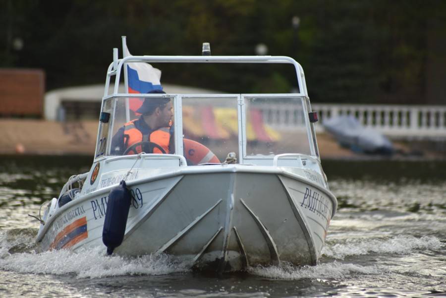
<instances>
[{"instance_id":1,"label":"dark shaded band of water along the far shoreline","mask_svg":"<svg viewBox=\"0 0 446 298\"><path fill-rule=\"evenodd\" d=\"M0 155L0 173L29 174L56 171L69 176L87 172L93 162L85 155ZM329 179L446 179L446 160L322 160Z\"/></svg>"}]
</instances>

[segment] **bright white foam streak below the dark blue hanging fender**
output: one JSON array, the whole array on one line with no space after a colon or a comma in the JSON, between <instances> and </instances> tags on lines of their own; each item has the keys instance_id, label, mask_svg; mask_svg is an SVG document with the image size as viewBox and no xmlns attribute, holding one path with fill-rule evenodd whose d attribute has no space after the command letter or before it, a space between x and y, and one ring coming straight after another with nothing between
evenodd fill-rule
<instances>
[{"instance_id":1,"label":"bright white foam streak below the dark blue hanging fender","mask_svg":"<svg viewBox=\"0 0 446 298\"><path fill-rule=\"evenodd\" d=\"M186 271L166 255L138 258L107 256L104 249L73 252L69 250L43 253L0 252L0 268L21 273L74 274L78 278L99 278L120 275L163 275Z\"/></svg>"}]
</instances>

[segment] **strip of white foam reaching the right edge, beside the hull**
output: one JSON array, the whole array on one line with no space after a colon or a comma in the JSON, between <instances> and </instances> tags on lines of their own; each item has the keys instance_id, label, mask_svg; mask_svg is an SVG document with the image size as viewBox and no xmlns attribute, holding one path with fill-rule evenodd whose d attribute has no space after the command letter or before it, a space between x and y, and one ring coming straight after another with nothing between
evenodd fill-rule
<instances>
[{"instance_id":1,"label":"strip of white foam reaching the right edge, beside the hull","mask_svg":"<svg viewBox=\"0 0 446 298\"><path fill-rule=\"evenodd\" d=\"M365 255L369 253L408 254L420 249L439 249L445 246L436 237L415 238L397 236L390 239L348 239L345 243L330 246L326 243L322 253L328 257L344 259L346 256Z\"/></svg>"}]
</instances>

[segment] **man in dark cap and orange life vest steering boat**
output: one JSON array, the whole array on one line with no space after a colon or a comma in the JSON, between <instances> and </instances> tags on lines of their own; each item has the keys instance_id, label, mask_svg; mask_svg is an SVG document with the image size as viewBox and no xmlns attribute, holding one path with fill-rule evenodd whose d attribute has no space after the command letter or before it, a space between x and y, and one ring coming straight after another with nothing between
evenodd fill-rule
<instances>
[{"instance_id":1,"label":"man in dark cap and orange life vest steering boat","mask_svg":"<svg viewBox=\"0 0 446 298\"><path fill-rule=\"evenodd\" d=\"M149 93L165 94L163 90ZM111 139L111 154L173 153L173 104L169 98L146 98L136 110L141 116L119 128Z\"/></svg>"}]
</instances>

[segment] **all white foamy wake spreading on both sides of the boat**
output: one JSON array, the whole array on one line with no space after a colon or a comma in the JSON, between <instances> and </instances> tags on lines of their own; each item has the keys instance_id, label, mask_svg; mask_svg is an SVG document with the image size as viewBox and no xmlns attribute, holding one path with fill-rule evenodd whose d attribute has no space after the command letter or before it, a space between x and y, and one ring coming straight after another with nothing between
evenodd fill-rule
<instances>
[{"instance_id":1,"label":"all white foamy wake spreading on both sides of the boat","mask_svg":"<svg viewBox=\"0 0 446 298\"><path fill-rule=\"evenodd\" d=\"M13 229L0 231L0 269L21 273L74 275L76 278L101 278L125 275L167 275L189 271L187 264L180 263L165 254L144 255L137 258L108 256L105 249L53 250L39 252L34 244L36 229ZM332 240L333 241L333 240ZM360 266L341 263L347 256L373 253L410 254L420 250L438 250L445 246L438 238L397 236L388 239L348 239L343 243L330 244L323 255L333 262L317 266L296 267L292 265L257 266L248 269L249 274L279 279L343 279L366 274L377 275L377 265ZM51 261L52 260L52 261Z\"/></svg>"}]
</instances>

